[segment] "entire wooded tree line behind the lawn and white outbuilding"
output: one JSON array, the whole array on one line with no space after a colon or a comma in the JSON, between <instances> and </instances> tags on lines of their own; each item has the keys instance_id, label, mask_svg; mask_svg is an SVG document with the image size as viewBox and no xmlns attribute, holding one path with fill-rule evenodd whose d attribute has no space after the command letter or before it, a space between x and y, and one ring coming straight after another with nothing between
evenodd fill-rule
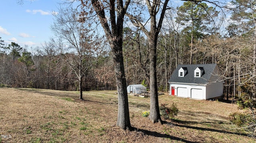
<instances>
[{"instance_id":1,"label":"entire wooded tree line behind the lawn and white outbuilding","mask_svg":"<svg viewBox=\"0 0 256 143\"><path fill-rule=\"evenodd\" d=\"M159 90L168 91L168 79L178 64L217 63L224 77L225 94L254 92L255 4L249 0L234 1L232 4L236 6L233 9L236 11L231 11L230 23L224 22L227 15L203 2L188 1L174 10L166 11L156 49ZM60 11L63 12L61 16L64 16L64 10ZM60 32L57 26L52 29ZM84 29L84 33L88 33L84 24L82 26L80 29L72 29L73 32ZM124 27L123 34L126 84L140 84L146 80L149 88L148 38L142 28L133 25ZM76 36L79 38L79 35ZM85 39L90 39L88 37ZM20 47L16 43L6 45L2 39L0 82L13 87L79 90L76 70L70 66L76 67L77 63L77 50L72 51L75 45L63 42L63 37L58 38L42 43L41 47L31 48ZM74 42L74 39L70 41ZM104 42L99 44L95 39L90 41L90 45L94 47L87 49L94 50L85 52L81 49L80 53L86 55L81 60L86 67L81 79L84 81L83 90L116 89L112 53L108 45Z\"/></svg>"}]
</instances>

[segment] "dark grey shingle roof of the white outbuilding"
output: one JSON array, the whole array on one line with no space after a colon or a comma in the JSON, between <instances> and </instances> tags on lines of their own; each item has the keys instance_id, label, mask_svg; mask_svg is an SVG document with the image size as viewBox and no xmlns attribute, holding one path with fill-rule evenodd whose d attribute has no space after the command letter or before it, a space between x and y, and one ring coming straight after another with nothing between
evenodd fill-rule
<instances>
[{"instance_id":1,"label":"dark grey shingle roof of the white outbuilding","mask_svg":"<svg viewBox=\"0 0 256 143\"><path fill-rule=\"evenodd\" d=\"M207 84L209 83L210 77L214 74L216 75L216 73L213 73L216 66L217 64L178 65L168 82ZM183 69L186 67L188 70L184 77L178 76L178 71L181 67ZM199 67L200 70L202 68L204 69L204 73L201 77L194 77L194 70L197 67Z\"/></svg>"}]
</instances>

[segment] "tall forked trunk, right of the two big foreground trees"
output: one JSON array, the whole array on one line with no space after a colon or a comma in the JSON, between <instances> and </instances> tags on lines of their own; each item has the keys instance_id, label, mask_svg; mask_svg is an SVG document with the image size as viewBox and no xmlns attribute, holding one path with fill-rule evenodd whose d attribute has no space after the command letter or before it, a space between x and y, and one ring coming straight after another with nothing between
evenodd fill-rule
<instances>
[{"instance_id":1,"label":"tall forked trunk, right of the two big foreground trees","mask_svg":"<svg viewBox=\"0 0 256 143\"><path fill-rule=\"evenodd\" d=\"M158 1L158 0L153 0L153 1L146 0L148 12L150 14L150 31L149 32L144 27L144 24L142 24L140 20L138 20L138 18L130 14L126 14L130 18L132 23L135 26L140 27L148 37L149 51L150 51L150 68L149 68L150 69L150 115L149 115L149 119L154 123L156 122L162 123L162 119L160 117L160 111L159 111L159 104L158 104L158 90L157 90L157 79L156 79L156 45L157 45L158 34L162 27L162 22L164 19L164 14L165 14L168 2L169 0L164 0L164 4L162 6L162 12L161 12L160 18L158 19L158 24L157 24L156 15L162 3L161 1Z\"/></svg>"}]
</instances>

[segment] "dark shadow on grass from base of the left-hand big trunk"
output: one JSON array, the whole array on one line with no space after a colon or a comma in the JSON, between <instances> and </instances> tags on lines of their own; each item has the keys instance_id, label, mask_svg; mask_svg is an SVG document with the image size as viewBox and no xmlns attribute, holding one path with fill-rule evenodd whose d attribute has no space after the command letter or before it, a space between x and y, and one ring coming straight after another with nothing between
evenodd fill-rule
<instances>
[{"instance_id":1,"label":"dark shadow on grass from base of the left-hand big trunk","mask_svg":"<svg viewBox=\"0 0 256 143\"><path fill-rule=\"evenodd\" d=\"M135 130L138 131L138 132L141 131L145 135L150 135L150 136L153 136L153 137L163 137L163 138L168 138L168 139L172 139L172 140L176 140L176 141L182 141L184 143L197 143L197 142L194 142L194 141L188 141L186 139L182 139L180 137L174 137L172 135L158 133L156 131L148 131L148 130L145 130L145 129L138 129L138 128L135 128Z\"/></svg>"}]
</instances>

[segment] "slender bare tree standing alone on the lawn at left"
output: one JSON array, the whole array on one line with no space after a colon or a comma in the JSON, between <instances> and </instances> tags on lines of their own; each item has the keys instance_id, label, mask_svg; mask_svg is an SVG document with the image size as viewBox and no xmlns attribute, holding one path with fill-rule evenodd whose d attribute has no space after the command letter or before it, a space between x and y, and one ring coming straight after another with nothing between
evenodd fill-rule
<instances>
[{"instance_id":1,"label":"slender bare tree standing alone on the lawn at left","mask_svg":"<svg viewBox=\"0 0 256 143\"><path fill-rule=\"evenodd\" d=\"M69 54L65 56L66 62L70 65L72 72L76 75L80 90L80 99L82 95L82 79L84 73L91 65L92 57L92 35L90 29L86 28L86 21L81 22L79 18L80 12L73 9L72 6L60 8L55 16L55 22L51 26L52 31L58 37L64 39L67 43ZM73 51L74 49L74 51Z\"/></svg>"}]
</instances>

